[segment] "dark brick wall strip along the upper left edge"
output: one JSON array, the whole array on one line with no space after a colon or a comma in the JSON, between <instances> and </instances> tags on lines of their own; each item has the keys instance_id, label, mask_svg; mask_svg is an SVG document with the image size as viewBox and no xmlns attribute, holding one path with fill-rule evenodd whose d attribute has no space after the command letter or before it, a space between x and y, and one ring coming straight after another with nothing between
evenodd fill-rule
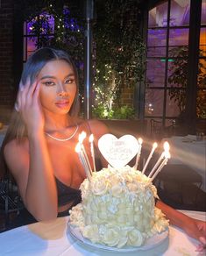
<instances>
[{"instance_id":1,"label":"dark brick wall strip along the upper left edge","mask_svg":"<svg viewBox=\"0 0 206 256\"><path fill-rule=\"evenodd\" d=\"M13 1L0 3L0 122L8 123L14 102Z\"/></svg>"}]
</instances>

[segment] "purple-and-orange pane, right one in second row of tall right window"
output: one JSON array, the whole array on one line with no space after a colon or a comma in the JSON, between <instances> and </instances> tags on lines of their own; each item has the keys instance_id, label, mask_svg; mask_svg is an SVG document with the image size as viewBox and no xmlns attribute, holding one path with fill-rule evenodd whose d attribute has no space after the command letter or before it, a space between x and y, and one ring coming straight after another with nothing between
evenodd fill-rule
<instances>
[{"instance_id":1,"label":"purple-and-orange pane, right one in second row of tall right window","mask_svg":"<svg viewBox=\"0 0 206 256\"><path fill-rule=\"evenodd\" d=\"M169 46L188 46L188 28L170 29Z\"/></svg>"}]
</instances>

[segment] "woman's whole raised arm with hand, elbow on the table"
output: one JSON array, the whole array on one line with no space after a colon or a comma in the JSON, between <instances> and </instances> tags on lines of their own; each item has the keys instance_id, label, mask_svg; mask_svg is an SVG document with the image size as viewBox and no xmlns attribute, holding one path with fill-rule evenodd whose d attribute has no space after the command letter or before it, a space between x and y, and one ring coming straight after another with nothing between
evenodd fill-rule
<instances>
[{"instance_id":1,"label":"woman's whole raised arm with hand, elbow on the table","mask_svg":"<svg viewBox=\"0 0 206 256\"><path fill-rule=\"evenodd\" d=\"M4 156L26 209L37 220L47 220L57 216L57 192L38 96L35 83L27 83L19 92L18 109L27 128L28 144L13 140L5 146Z\"/></svg>"}]
</instances>

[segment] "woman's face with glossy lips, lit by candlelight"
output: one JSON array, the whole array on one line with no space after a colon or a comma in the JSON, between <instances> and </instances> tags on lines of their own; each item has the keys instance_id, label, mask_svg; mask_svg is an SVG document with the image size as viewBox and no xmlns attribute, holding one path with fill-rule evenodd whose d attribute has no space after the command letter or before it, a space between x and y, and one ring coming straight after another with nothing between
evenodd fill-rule
<instances>
[{"instance_id":1,"label":"woman's face with glossy lips, lit by candlelight","mask_svg":"<svg viewBox=\"0 0 206 256\"><path fill-rule=\"evenodd\" d=\"M43 109L67 113L75 99L75 72L66 60L51 60L41 69L39 98Z\"/></svg>"}]
</instances>

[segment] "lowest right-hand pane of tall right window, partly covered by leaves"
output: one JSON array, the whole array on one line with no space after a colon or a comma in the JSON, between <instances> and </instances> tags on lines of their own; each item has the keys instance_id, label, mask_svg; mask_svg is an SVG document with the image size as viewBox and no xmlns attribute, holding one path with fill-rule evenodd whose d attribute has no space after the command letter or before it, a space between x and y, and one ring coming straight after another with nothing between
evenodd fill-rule
<instances>
[{"instance_id":1,"label":"lowest right-hand pane of tall right window, partly covered by leaves","mask_svg":"<svg viewBox=\"0 0 206 256\"><path fill-rule=\"evenodd\" d=\"M167 90L166 116L178 117L185 107L186 90Z\"/></svg>"}]
</instances>

